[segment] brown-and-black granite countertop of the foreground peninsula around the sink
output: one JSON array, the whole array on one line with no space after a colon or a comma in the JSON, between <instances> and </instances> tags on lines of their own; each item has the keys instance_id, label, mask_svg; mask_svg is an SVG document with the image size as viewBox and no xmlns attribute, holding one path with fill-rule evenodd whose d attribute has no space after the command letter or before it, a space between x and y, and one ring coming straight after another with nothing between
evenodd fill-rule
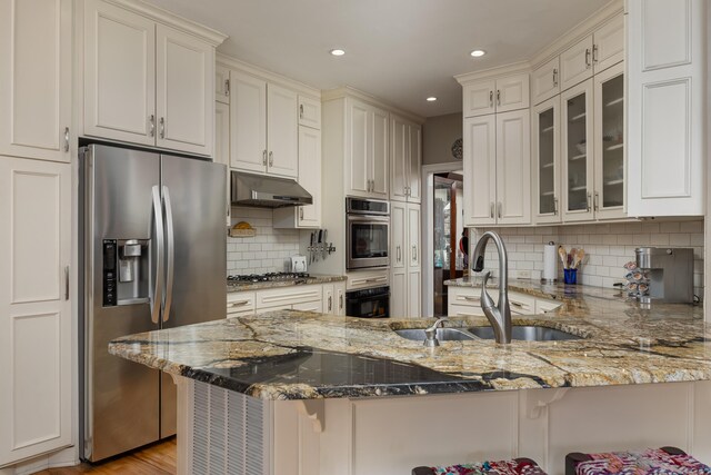
<instances>
[{"instance_id":1,"label":"brown-and-black granite countertop of the foreground peninsula around the sink","mask_svg":"<svg viewBox=\"0 0 711 475\"><path fill-rule=\"evenodd\" d=\"M572 288L570 288L572 287ZM425 348L393 329L432 319L363 319L280 310L119 338L113 355L263 399L373 397L711 379L711 327L700 307L641 308L621 291L512 281L560 299L542 325L564 342L442 342ZM457 317L452 327L488 326Z\"/></svg>"}]
</instances>

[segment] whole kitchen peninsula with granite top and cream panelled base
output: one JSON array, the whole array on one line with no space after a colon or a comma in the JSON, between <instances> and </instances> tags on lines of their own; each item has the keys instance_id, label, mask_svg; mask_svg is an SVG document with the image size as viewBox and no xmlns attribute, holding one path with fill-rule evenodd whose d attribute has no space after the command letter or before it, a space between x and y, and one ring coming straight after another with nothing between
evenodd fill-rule
<instances>
[{"instance_id":1,"label":"whole kitchen peninsula with granite top and cream panelled base","mask_svg":"<svg viewBox=\"0 0 711 475\"><path fill-rule=\"evenodd\" d=\"M562 474L567 452L655 445L711 459L701 423L711 417L711 331L700 308L644 309L602 288L510 288L562 303L513 325L582 338L428 349L394 331L428 320L283 310L127 336L110 353L174 376L182 473L216 463L280 475L408 473L529 456Z\"/></svg>"}]
</instances>

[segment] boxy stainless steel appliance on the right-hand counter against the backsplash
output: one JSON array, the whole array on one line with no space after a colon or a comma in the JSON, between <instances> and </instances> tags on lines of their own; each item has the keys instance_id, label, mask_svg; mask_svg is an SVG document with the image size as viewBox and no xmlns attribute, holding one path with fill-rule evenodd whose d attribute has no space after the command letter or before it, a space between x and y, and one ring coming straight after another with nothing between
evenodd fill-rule
<instances>
[{"instance_id":1,"label":"boxy stainless steel appliance on the right-hand counter against the backsplash","mask_svg":"<svg viewBox=\"0 0 711 475\"><path fill-rule=\"evenodd\" d=\"M645 280L640 301L693 303L693 249L640 247L634 253Z\"/></svg>"}]
</instances>

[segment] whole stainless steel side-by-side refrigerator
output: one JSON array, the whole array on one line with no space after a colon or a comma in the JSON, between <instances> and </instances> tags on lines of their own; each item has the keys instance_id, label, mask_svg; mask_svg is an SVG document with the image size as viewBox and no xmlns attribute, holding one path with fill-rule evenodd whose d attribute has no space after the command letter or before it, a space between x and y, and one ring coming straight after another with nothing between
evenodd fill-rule
<instances>
[{"instance_id":1,"label":"whole stainless steel side-by-side refrigerator","mask_svg":"<svg viewBox=\"0 0 711 475\"><path fill-rule=\"evenodd\" d=\"M226 318L226 174L200 159L81 149L83 459L176 433L171 378L109 355L108 344Z\"/></svg>"}]
</instances>

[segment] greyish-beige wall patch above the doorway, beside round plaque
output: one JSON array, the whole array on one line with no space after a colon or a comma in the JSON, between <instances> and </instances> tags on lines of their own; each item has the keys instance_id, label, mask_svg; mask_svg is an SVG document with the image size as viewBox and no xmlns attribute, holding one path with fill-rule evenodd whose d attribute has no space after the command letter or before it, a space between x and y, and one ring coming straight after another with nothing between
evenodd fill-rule
<instances>
[{"instance_id":1,"label":"greyish-beige wall patch above the doorway, beside round plaque","mask_svg":"<svg viewBox=\"0 0 711 475\"><path fill-rule=\"evenodd\" d=\"M461 112L429 117L422 127L422 165L461 164L452 157L452 144L461 138Z\"/></svg>"}]
</instances>

